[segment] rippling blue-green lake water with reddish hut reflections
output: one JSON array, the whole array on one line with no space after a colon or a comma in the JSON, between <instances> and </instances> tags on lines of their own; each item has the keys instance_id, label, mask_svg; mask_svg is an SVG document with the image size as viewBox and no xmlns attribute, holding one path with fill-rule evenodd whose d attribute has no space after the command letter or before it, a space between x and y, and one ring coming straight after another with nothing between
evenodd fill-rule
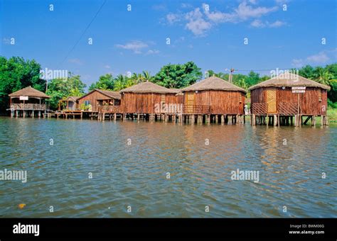
<instances>
[{"instance_id":1,"label":"rippling blue-green lake water with reddish hut reflections","mask_svg":"<svg viewBox=\"0 0 337 241\"><path fill-rule=\"evenodd\" d=\"M336 217L336 134L3 117L0 171L28 178L0 181L0 217Z\"/></svg>"}]
</instances>

